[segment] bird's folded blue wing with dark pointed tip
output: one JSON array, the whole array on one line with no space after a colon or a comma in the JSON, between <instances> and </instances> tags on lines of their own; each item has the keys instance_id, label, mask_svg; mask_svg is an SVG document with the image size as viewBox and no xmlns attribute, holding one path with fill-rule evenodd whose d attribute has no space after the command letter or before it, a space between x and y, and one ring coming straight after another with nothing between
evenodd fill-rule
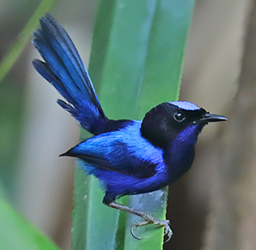
<instances>
[{"instance_id":1,"label":"bird's folded blue wing with dark pointed tip","mask_svg":"<svg viewBox=\"0 0 256 250\"><path fill-rule=\"evenodd\" d=\"M155 175L155 168L161 161L161 152L142 137L127 136L120 130L95 136L82 141L63 156L78 157L95 168L136 178Z\"/></svg>"}]
</instances>

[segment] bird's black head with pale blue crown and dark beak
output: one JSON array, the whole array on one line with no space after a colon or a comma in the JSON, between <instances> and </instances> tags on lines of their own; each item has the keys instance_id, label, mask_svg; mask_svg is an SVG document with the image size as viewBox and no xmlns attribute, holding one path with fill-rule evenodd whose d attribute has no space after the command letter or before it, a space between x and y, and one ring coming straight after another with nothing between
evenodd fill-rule
<instances>
[{"instance_id":1,"label":"bird's black head with pale blue crown and dark beak","mask_svg":"<svg viewBox=\"0 0 256 250\"><path fill-rule=\"evenodd\" d=\"M198 125L200 131L208 122L221 120L227 119L210 114L195 104L181 101L163 103L145 114L140 131L154 146L165 148L189 125Z\"/></svg>"}]
</instances>

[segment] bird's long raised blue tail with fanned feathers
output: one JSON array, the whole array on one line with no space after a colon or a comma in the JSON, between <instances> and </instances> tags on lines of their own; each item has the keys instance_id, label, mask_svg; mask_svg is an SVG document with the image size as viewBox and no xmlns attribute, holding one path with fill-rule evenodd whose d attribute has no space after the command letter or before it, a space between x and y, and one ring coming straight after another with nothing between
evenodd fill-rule
<instances>
[{"instance_id":1,"label":"bird's long raised blue tail with fanned feathers","mask_svg":"<svg viewBox=\"0 0 256 250\"><path fill-rule=\"evenodd\" d=\"M67 100L57 104L68 110L85 130L100 134L107 118L95 93L89 73L73 41L63 27L48 13L40 19L41 29L36 29L32 44L44 61L35 59L37 72Z\"/></svg>"}]
</instances>

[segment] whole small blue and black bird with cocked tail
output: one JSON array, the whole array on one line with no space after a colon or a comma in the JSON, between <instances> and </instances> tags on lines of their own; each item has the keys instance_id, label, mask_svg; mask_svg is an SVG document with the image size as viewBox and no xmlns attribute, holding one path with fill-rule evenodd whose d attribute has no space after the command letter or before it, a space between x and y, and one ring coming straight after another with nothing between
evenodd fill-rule
<instances>
[{"instance_id":1,"label":"whole small blue and black bird with cocked tail","mask_svg":"<svg viewBox=\"0 0 256 250\"><path fill-rule=\"evenodd\" d=\"M169 221L115 200L123 195L144 194L172 184L193 163L194 145L199 133L209 122L226 117L210 114L197 105L184 101L159 104L144 120L110 120L101 108L90 80L72 40L63 27L48 13L40 19L32 44L44 61L33 65L66 99L57 100L91 138L80 142L61 156L78 157L85 173L99 178L105 191L103 203L144 219L131 226L133 237L138 226L154 223L165 227L172 236Z\"/></svg>"}]
</instances>

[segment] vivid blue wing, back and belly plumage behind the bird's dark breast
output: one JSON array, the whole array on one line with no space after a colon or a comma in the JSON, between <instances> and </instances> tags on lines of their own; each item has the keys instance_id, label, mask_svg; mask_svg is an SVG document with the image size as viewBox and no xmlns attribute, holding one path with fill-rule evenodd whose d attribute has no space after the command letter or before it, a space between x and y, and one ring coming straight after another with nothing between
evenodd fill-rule
<instances>
[{"instance_id":1,"label":"vivid blue wing, back and belly plumage behind the bird's dark breast","mask_svg":"<svg viewBox=\"0 0 256 250\"><path fill-rule=\"evenodd\" d=\"M89 163L84 169L103 183L105 202L116 196L161 189L167 184L163 151L141 137L140 127L141 121L134 120L120 130L82 141L64 153Z\"/></svg>"}]
</instances>

